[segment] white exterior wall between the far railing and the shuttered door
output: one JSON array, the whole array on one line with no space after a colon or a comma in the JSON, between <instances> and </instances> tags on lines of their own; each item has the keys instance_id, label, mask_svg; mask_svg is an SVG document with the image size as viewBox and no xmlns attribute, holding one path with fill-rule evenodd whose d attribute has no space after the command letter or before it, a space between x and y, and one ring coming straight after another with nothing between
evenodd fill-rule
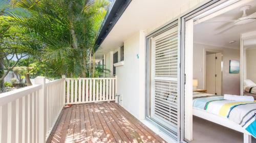
<instances>
[{"instance_id":1,"label":"white exterior wall between the far railing and the shuttered door","mask_svg":"<svg viewBox=\"0 0 256 143\"><path fill-rule=\"evenodd\" d=\"M140 120L145 118L144 42L143 31L124 41L124 65L116 67L121 106Z\"/></svg>"}]
</instances>

